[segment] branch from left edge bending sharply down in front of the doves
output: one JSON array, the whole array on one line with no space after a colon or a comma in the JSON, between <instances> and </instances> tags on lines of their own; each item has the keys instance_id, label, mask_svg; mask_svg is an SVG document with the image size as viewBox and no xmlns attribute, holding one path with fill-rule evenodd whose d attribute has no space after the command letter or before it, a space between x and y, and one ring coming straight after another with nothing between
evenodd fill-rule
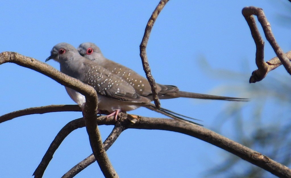
<instances>
[{"instance_id":1,"label":"branch from left edge bending sharply down in front of the doves","mask_svg":"<svg viewBox=\"0 0 291 178\"><path fill-rule=\"evenodd\" d=\"M61 73L43 62L16 52L0 53L0 65L6 62L15 63L40 72L85 96L86 103L84 105L83 117L94 156L105 177L118 177L109 161L106 151L103 149L100 132L97 127L97 121L95 119L97 113L97 92L95 89L73 77Z\"/></svg>"}]
</instances>

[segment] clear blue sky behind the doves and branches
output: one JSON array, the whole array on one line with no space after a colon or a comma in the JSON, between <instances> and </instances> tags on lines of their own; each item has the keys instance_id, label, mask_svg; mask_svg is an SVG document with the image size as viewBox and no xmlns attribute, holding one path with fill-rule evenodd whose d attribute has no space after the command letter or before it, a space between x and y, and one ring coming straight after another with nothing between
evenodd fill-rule
<instances>
[{"instance_id":1,"label":"clear blue sky behind the doves and branches","mask_svg":"<svg viewBox=\"0 0 291 178\"><path fill-rule=\"evenodd\" d=\"M77 47L93 42L108 59L144 74L139 44L157 4L158 1L5 1L0 7L0 52L14 51L44 62L57 43ZM290 28L278 21L279 14L288 14L287 5L288 1L265 0L169 1L147 46L156 82L176 85L183 91L249 97L248 80L256 69L255 44L241 10L245 6L263 8L278 44L287 52ZM267 41L265 46L265 59L274 57ZM201 67L201 57L214 69L238 75L207 72ZM59 69L55 61L48 64ZM269 75L276 73L288 75L282 67ZM0 115L29 107L74 104L63 86L38 72L3 64L0 76ZM232 92L221 92L221 86L228 86ZM242 94L243 89L246 91ZM217 115L229 104L183 98L162 101L162 107L201 119L207 128L215 128ZM251 105L252 101L244 104ZM143 108L130 113L163 117ZM30 177L58 131L81 116L81 112L49 113L1 123L1 177ZM102 138L112 128L100 126ZM230 131L224 135L232 138ZM90 154L86 129L78 129L56 151L44 177L61 177ZM120 177L201 177L207 169L219 165L226 154L196 138L148 130L126 130L108 150ZM94 163L76 177L102 177L102 172Z\"/></svg>"}]
</instances>

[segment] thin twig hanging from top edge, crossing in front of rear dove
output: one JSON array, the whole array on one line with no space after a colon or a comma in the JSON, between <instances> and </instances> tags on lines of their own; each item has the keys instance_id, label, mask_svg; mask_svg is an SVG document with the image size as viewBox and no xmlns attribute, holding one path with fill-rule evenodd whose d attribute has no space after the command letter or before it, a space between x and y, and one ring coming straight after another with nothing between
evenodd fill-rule
<instances>
[{"instance_id":1,"label":"thin twig hanging from top edge, crossing in front of rear dove","mask_svg":"<svg viewBox=\"0 0 291 178\"><path fill-rule=\"evenodd\" d=\"M148 64L148 57L146 55L146 46L148 44L148 39L150 38L150 32L152 31L152 27L154 26L154 23L159 15L159 13L162 11L164 6L169 0L161 0L159 4L157 5L156 9L150 16L150 19L148 20L148 23L145 27L145 33L143 35L143 39L141 41L141 44L139 45L140 49L140 56L141 56L141 61L143 63L143 70L145 71L145 75L148 79L148 82L150 83L150 86L152 87L152 98L155 102L155 105L157 108L161 107L160 101L159 101L159 96L157 92L157 86L155 79L152 77L152 74L150 72L150 65Z\"/></svg>"}]
</instances>

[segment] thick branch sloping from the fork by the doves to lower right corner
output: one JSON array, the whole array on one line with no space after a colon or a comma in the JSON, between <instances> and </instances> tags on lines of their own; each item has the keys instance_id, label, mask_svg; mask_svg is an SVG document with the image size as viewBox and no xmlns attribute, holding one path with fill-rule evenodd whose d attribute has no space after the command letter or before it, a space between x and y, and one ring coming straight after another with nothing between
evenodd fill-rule
<instances>
[{"instance_id":1,"label":"thick branch sloping from the fork by the doves to lower right corner","mask_svg":"<svg viewBox=\"0 0 291 178\"><path fill-rule=\"evenodd\" d=\"M242 144L234 142L218 133L215 133L207 128L195 125L185 124L172 119L158 119L158 118L146 118L142 117L139 122L133 125L129 125L129 128L137 129L157 129L174 131L184 133L192 137L196 137L200 140L206 141L219 148L222 148L240 158L263 168L278 177L291 177L291 170L271 158L260 154Z\"/></svg>"}]
</instances>

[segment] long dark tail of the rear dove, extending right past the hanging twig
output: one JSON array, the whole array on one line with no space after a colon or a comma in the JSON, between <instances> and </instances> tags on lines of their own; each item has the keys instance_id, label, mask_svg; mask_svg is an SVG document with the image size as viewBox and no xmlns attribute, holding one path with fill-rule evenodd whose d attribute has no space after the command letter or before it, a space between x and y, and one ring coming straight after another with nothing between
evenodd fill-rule
<instances>
[{"instance_id":1,"label":"long dark tail of the rear dove, extending right past the hanging twig","mask_svg":"<svg viewBox=\"0 0 291 178\"><path fill-rule=\"evenodd\" d=\"M160 95L159 95L160 97ZM191 93L187 91L175 91L163 94L161 99L170 99L170 98L198 98L198 99L210 99L210 100L227 100L227 101L249 101L248 98L235 98L228 96L216 96L216 95L207 95L200 93Z\"/></svg>"}]
</instances>

